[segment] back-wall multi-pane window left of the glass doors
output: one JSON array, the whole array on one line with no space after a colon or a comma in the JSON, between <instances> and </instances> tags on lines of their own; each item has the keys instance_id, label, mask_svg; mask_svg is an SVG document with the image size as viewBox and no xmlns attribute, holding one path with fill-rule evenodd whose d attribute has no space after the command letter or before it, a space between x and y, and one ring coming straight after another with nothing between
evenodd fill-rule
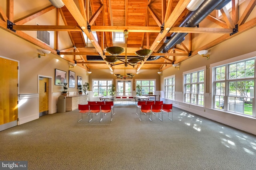
<instances>
[{"instance_id":1,"label":"back-wall multi-pane window left of the glass doors","mask_svg":"<svg viewBox=\"0 0 256 170\"><path fill-rule=\"evenodd\" d=\"M99 97L99 96L110 96L109 89L111 88L110 85L112 85L112 80L92 80L92 92L93 97Z\"/></svg>"}]
</instances>

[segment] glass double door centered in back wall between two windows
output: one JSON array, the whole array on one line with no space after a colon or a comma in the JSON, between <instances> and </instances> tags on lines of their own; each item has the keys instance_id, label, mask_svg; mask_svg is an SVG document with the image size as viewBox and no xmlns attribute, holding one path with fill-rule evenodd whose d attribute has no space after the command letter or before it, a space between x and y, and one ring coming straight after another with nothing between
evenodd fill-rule
<instances>
[{"instance_id":1,"label":"glass double door centered in back wall between two windows","mask_svg":"<svg viewBox=\"0 0 256 170\"><path fill-rule=\"evenodd\" d=\"M132 96L132 81L118 80L117 81L117 96Z\"/></svg>"}]
</instances>

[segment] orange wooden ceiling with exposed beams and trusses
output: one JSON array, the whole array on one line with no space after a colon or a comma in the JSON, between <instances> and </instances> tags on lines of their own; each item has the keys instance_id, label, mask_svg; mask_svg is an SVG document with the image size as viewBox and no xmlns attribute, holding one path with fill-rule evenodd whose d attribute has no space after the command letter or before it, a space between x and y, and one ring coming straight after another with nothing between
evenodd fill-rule
<instances>
[{"instance_id":1,"label":"orange wooden ceiling with exposed beams and trusses","mask_svg":"<svg viewBox=\"0 0 256 170\"><path fill-rule=\"evenodd\" d=\"M140 49L151 49L152 56L161 56L157 60L142 61L134 67L128 65L126 69L159 69L165 70L172 66L172 63L180 63L190 57L197 55L197 52L202 49L210 49L218 43L232 38L230 33L235 28L239 27L239 33L246 31L255 26L255 18L247 21L248 16L252 12L256 0L250 1L248 7L242 14L238 14L238 0L232 0L232 13L227 12L226 8L222 8L221 12L223 19L219 20L214 15L209 15L206 20L217 24L218 27L178 27L179 23L186 17L188 10L186 8L190 0L62 0L65 4L62 8L56 8L56 25L24 25L26 22L37 18L55 7L48 0L42 0L46 7L37 7L36 11L31 12L25 17L14 20L15 4L14 0L6 0L7 11L0 9L0 27L6 29L7 20L12 21L13 29L16 30L15 35L26 39L27 41L38 45L41 48L48 49L56 54L56 50L60 50L60 54L64 54L64 59L69 62L76 61L78 65L86 70L90 69L124 69L124 64L111 66L104 60L88 61L87 56L100 56L102 59L109 56L105 49L106 47L117 46L113 42L113 32L128 31L127 43L122 44L124 53L122 56L136 56L135 52ZM30 0L25 0L30 2ZM212 12L215 14L215 11ZM61 16L64 25L60 25L59 17ZM238 16L241 16L238 18ZM52 19L51 19L52 20ZM90 25L90 30L87 29ZM83 28L84 27L84 28ZM161 31L161 27L164 29ZM167 30L166 28L170 28ZM54 49L40 43L37 40L27 36L22 31L45 30L55 31L56 38L54 40ZM8 30L9 31L9 30ZM58 41L59 32L67 31L72 42L72 46L65 49L58 47L62 42ZM91 40L91 43L86 43L84 34ZM94 38L92 31L96 31L97 39ZM175 45L168 53L158 53L158 50L163 45L163 40L166 36L170 36L172 32L188 33L187 43ZM202 45L198 49L194 49L193 38L194 33L221 33L217 39L212 42ZM118 62L117 62L118 63ZM120 63L120 62L119 62Z\"/></svg>"}]
</instances>

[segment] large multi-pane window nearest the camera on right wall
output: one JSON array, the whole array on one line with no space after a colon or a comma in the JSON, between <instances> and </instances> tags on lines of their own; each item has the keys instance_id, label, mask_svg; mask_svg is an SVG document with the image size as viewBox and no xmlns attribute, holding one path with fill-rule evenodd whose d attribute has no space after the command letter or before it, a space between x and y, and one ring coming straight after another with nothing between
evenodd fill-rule
<instances>
[{"instance_id":1,"label":"large multi-pane window nearest the camera on right wall","mask_svg":"<svg viewBox=\"0 0 256 170\"><path fill-rule=\"evenodd\" d=\"M252 115L254 59L214 67L214 108Z\"/></svg>"}]
</instances>

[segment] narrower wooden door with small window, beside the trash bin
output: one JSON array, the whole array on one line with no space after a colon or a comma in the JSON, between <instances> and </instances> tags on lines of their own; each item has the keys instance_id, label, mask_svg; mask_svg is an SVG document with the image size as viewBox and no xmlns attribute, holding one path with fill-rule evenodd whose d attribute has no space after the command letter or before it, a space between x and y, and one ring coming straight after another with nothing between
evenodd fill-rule
<instances>
[{"instance_id":1,"label":"narrower wooden door with small window, beside the trash bin","mask_svg":"<svg viewBox=\"0 0 256 170\"><path fill-rule=\"evenodd\" d=\"M49 112L49 78L39 78L39 116Z\"/></svg>"}]
</instances>

